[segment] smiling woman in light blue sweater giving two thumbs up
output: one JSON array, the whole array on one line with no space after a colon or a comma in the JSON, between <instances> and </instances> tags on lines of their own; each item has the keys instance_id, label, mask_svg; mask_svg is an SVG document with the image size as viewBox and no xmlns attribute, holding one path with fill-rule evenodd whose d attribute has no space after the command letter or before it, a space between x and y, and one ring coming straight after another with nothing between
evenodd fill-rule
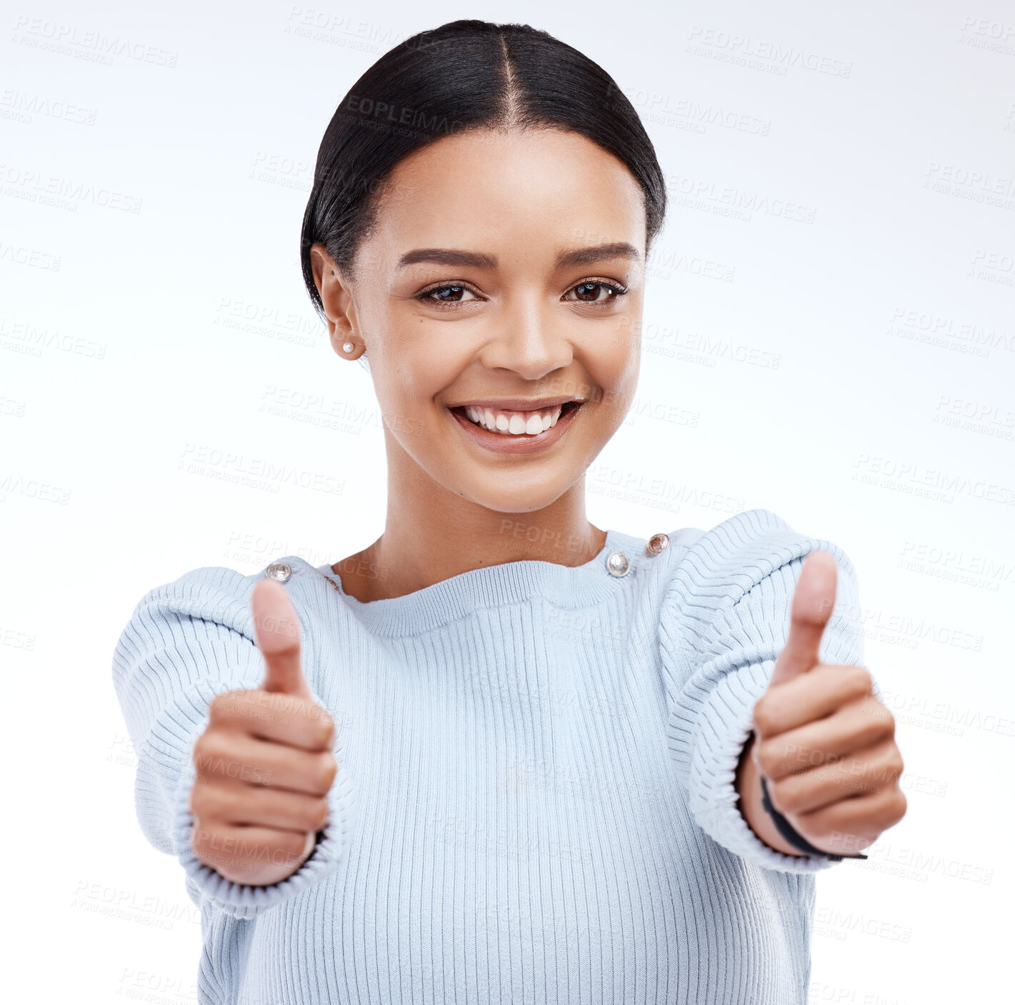
<instances>
[{"instance_id":1,"label":"smiling woman in light blue sweater giving two thumbs up","mask_svg":"<svg viewBox=\"0 0 1015 1005\"><path fill-rule=\"evenodd\" d=\"M586 517L664 210L630 104L528 25L421 32L336 111L302 268L369 360L384 533L158 587L114 661L200 1001L806 1001L814 873L902 764L840 548Z\"/></svg>"}]
</instances>

